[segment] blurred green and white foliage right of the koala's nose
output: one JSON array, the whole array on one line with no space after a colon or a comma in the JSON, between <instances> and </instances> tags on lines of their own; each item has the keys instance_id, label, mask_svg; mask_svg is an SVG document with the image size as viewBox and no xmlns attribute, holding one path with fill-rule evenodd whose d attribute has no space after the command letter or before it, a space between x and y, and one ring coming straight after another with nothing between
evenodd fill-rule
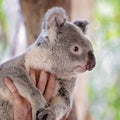
<instances>
[{"instance_id":1,"label":"blurred green and white foliage right of the koala's nose","mask_svg":"<svg viewBox=\"0 0 120 120\"><path fill-rule=\"evenodd\" d=\"M120 0L96 0L94 47L97 59L90 76L93 120L120 120Z\"/></svg>"}]
</instances>

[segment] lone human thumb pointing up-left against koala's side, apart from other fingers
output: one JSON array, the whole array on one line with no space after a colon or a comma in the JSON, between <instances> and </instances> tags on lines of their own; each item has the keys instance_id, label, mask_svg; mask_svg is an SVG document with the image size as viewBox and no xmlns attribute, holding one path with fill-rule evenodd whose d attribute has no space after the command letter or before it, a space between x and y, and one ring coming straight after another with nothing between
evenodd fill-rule
<instances>
[{"instance_id":1,"label":"lone human thumb pointing up-left against koala's side, apart from other fingers","mask_svg":"<svg viewBox=\"0 0 120 120\"><path fill-rule=\"evenodd\" d=\"M15 101L21 102L21 100L22 100L21 96L19 95L19 92L18 92L16 86L14 85L14 83L12 82L12 80L9 78L5 78L4 82L7 85L10 92L12 93Z\"/></svg>"}]
</instances>

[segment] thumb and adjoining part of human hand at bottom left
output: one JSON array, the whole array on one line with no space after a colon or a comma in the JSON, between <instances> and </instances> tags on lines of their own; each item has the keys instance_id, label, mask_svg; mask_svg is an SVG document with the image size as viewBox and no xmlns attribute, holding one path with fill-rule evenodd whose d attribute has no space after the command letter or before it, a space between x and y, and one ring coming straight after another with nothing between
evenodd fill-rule
<instances>
[{"instance_id":1,"label":"thumb and adjoining part of human hand at bottom left","mask_svg":"<svg viewBox=\"0 0 120 120\"><path fill-rule=\"evenodd\" d=\"M14 120L32 120L31 104L19 94L11 79L4 81L14 97Z\"/></svg>"}]
</instances>

